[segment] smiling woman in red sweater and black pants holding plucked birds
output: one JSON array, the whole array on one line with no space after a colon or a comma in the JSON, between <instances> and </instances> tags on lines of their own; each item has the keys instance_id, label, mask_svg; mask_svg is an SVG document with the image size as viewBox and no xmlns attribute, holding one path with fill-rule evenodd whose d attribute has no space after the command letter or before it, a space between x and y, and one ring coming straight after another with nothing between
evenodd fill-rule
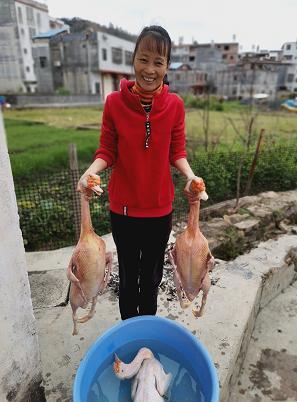
<instances>
[{"instance_id":1,"label":"smiling woman in red sweater and black pants holding plucked birds","mask_svg":"<svg viewBox=\"0 0 297 402\"><path fill-rule=\"evenodd\" d=\"M155 315L165 248L172 228L174 186L170 165L195 178L185 151L182 99L164 84L171 39L161 26L145 27L133 54L135 82L121 80L108 95L100 147L78 183L90 173L112 167L108 186L112 235L119 261L121 318ZM98 193L100 195L100 193Z\"/></svg>"}]
</instances>

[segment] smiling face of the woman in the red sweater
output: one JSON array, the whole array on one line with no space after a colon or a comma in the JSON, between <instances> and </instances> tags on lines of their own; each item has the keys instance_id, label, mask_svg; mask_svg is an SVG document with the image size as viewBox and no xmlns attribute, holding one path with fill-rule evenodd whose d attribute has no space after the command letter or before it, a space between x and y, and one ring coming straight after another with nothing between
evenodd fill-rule
<instances>
[{"instance_id":1,"label":"smiling face of the woman in the red sweater","mask_svg":"<svg viewBox=\"0 0 297 402\"><path fill-rule=\"evenodd\" d=\"M155 47L156 48L156 47ZM134 59L136 82L145 91L154 91L163 82L167 73L167 57L157 52L157 48L150 50L145 46L145 40L139 44Z\"/></svg>"}]
</instances>

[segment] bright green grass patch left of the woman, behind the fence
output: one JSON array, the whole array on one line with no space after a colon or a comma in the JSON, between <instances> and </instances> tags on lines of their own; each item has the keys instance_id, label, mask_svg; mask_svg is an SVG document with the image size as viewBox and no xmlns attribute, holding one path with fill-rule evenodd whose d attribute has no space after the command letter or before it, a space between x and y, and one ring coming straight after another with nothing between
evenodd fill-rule
<instances>
[{"instance_id":1,"label":"bright green grass patch left of the woman, behind the fence","mask_svg":"<svg viewBox=\"0 0 297 402\"><path fill-rule=\"evenodd\" d=\"M67 168L70 143L76 144L78 160L90 164L98 146L96 130L77 131L9 119L5 127L15 177Z\"/></svg>"}]
</instances>

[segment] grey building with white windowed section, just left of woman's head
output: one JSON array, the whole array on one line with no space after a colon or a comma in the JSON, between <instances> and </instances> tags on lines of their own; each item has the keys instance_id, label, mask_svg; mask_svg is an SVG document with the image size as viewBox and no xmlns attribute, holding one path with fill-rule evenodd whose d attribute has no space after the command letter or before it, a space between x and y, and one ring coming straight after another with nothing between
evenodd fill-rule
<instances>
[{"instance_id":1,"label":"grey building with white windowed section, just left of woman's head","mask_svg":"<svg viewBox=\"0 0 297 402\"><path fill-rule=\"evenodd\" d=\"M102 99L133 77L135 43L106 32L68 33L60 28L34 37L38 92L66 89L70 94L100 94Z\"/></svg>"}]
</instances>

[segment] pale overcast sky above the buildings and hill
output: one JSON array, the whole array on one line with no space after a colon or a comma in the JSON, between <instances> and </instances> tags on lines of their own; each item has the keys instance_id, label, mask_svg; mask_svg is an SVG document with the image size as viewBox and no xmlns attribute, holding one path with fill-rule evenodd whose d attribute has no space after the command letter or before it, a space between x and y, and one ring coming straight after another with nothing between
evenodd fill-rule
<instances>
[{"instance_id":1,"label":"pale overcast sky above the buildings and hill","mask_svg":"<svg viewBox=\"0 0 297 402\"><path fill-rule=\"evenodd\" d=\"M277 50L297 40L297 0L39 0L52 17L80 17L138 35L146 25L167 29L178 43L232 42L240 50ZM180 4L178 6L177 4Z\"/></svg>"}]
</instances>

